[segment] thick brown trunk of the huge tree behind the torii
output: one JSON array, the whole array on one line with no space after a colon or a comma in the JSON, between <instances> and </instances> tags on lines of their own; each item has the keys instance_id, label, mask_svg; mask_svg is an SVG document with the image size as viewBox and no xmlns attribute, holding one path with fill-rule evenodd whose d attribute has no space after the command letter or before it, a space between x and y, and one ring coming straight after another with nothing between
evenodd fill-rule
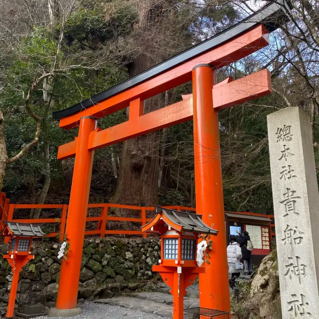
<instances>
[{"instance_id":1,"label":"thick brown trunk of the huge tree behind the torii","mask_svg":"<svg viewBox=\"0 0 319 319\"><path fill-rule=\"evenodd\" d=\"M130 77L161 61L161 46L154 36L161 32L162 2L139 2L140 22L137 32L143 36L142 52L129 66ZM147 38L145 38L147 37ZM141 45L142 45L141 44ZM164 104L163 94L144 103L144 114L155 111ZM160 132L147 134L123 143L118 185L114 201L121 204L155 205L158 202Z\"/></svg>"}]
</instances>

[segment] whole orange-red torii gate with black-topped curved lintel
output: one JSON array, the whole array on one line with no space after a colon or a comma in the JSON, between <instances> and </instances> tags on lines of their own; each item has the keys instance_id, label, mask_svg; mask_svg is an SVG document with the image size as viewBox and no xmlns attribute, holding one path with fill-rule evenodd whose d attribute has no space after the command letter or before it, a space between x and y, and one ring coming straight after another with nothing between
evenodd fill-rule
<instances>
[{"instance_id":1,"label":"whole orange-red torii gate with black-topped curved lintel","mask_svg":"<svg viewBox=\"0 0 319 319\"><path fill-rule=\"evenodd\" d=\"M199 278L200 307L230 312L217 114L219 110L270 94L272 89L268 70L215 84L215 69L269 44L269 32L277 28L273 20L278 22L283 11L275 2L265 8L244 23L114 88L54 113L63 129L79 125L75 141L58 150L58 159L75 157L75 164L66 225L70 247L61 267L56 309L76 307L94 150L193 118L196 211L202 214L204 223L220 232L213 240L210 264L205 263L205 274ZM265 23L265 17L272 22ZM189 80L192 80L192 95L143 114L144 100ZM127 122L105 130L97 127L97 119L128 106Z\"/></svg>"}]
</instances>

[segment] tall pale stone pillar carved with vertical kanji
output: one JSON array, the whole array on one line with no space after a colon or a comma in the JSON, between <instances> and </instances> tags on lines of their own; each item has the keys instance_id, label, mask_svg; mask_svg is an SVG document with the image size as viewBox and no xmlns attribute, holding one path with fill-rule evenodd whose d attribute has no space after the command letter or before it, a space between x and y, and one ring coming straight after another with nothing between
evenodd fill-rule
<instances>
[{"instance_id":1,"label":"tall pale stone pillar carved with vertical kanji","mask_svg":"<svg viewBox=\"0 0 319 319\"><path fill-rule=\"evenodd\" d=\"M267 116L282 318L319 318L319 193L309 116Z\"/></svg>"}]
</instances>

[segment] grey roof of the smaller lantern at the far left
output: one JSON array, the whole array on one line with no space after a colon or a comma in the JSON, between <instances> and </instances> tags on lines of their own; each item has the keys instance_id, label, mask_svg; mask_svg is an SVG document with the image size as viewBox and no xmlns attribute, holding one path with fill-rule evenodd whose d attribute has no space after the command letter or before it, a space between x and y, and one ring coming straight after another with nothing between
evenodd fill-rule
<instances>
[{"instance_id":1,"label":"grey roof of the smaller lantern at the far left","mask_svg":"<svg viewBox=\"0 0 319 319\"><path fill-rule=\"evenodd\" d=\"M21 237L43 237L45 235L40 228L43 224L18 223L7 220L4 220L3 223L5 227L1 235L4 233Z\"/></svg>"}]
</instances>

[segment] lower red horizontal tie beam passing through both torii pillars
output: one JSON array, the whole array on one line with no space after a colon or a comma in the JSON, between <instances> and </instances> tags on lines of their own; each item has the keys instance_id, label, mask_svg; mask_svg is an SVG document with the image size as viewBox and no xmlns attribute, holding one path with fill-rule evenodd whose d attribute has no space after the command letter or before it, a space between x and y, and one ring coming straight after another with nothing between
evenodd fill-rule
<instances>
[{"instance_id":1,"label":"lower red horizontal tie beam passing through both torii pillars","mask_svg":"<svg viewBox=\"0 0 319 319\"><path fill-rule=\"evenodd\" d=\"M236 81L219 85L213 89L213 105L224 109L248 100L265 96L272 92L271 75L268 70L261 70ZM97 150L174 124L192 119L192 98L166 106L133 120L115 125L103 131L94 131L89 138L89 150ZM58 149L59 160L75 156L77 140L61 145ZM114 206L112 206L114 207Z\"/></svg>"}]
</instances>

